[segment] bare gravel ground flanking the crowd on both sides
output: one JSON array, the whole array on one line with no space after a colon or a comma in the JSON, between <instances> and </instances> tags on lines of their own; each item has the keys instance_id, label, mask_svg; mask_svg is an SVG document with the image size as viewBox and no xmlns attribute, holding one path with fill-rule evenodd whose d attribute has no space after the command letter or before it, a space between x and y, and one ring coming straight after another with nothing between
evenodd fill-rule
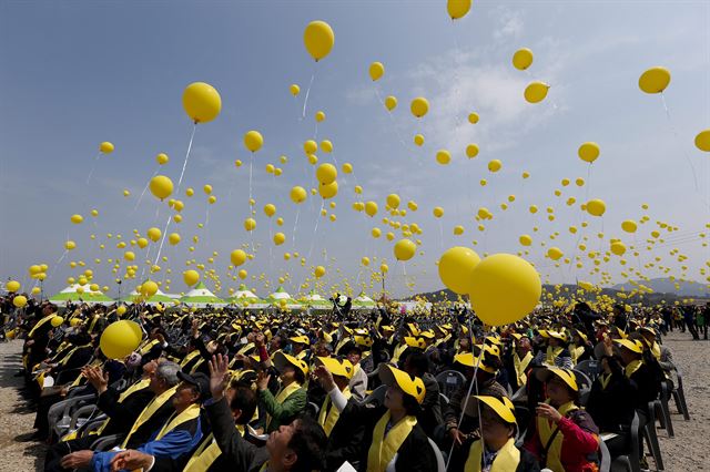
<instances>
[{"instance_id":1,"label":"bare gravel ground flanking the crowd on both sides","mask_svg":"<svg viewBox=\"0 0 710 472\"><path fill-rule=\"evenodd\" d=\"M689 334L672 332L665 339L673 361L683 374L690 421L684 421L671 402L674 438L659 430L667 471L710 471L710 341L693 341ZM42 470L44 445L22 441L33 432L34 413L19 392L22 341L0 342L0 471ZM652 466L652 461L649 460Z\"/></svg>"}]
</instances>

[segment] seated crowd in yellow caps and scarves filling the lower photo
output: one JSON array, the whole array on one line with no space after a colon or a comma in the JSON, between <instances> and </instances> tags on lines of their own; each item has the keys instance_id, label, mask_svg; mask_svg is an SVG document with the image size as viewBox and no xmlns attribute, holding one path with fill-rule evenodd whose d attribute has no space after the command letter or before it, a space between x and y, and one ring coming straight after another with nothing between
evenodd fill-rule
<instances>
[{"instance_id":1,"label":"seated crowd in yellow caps and scarves filling the lower photo","mask_svg":"<svg viewBox=\"0 0 710 472\"><path fill-rule=\"evenodd\" d=\"M632 423L674 382L655 308L577 302L499 328L456 305L0 308L45 471L581 472L602 442L646 466ZM108 359L121 318L143 340Z\"/></svg>"}]
</instances>

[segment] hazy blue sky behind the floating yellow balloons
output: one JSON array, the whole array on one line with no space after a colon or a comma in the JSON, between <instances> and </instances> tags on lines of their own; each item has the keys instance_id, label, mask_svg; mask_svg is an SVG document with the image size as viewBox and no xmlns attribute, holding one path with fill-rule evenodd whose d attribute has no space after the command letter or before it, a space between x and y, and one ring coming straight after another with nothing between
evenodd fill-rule
<instances>
[{"instance_id":1,"label":"hazy blue sky behind the floating yellow balloons","mask_svg":"<svg viewBox=\"0 0 710 472\"><path fill-rule=\"evenodd\" d=\"M302 40L305 25L316 19L335 31L335 47L318 64ZM576 246L582 243L587 252L604 253L611 237L640 248L638 258L627 254L627 266L616 256L600 264L600 273L609 273L615 283L625 281L622 273L629 274L629 267L649 277L662 275L658 265L670 268L665 275L704 279L699 269L708 248L699 234L710 220L704 204L710 201L710 167L708 156L692 142L710 126L708 2L476 1L469 14L454 24L445 1L2 2L0 34L0 274L3 279L24 280L26 287L31 264L50 265L47 287L54 291L67 277L79 274L68 263L83 260L84 268L94 270L95 281L109 285L115 295L115 276L106 259L125 250L115 248L115 235L130 242L134 228L141 235L151 226L162 229L170 214L150 194L138 207L136 203L158 170L158 153L171 158L160 172L178 181L192 130L181 95L194 81L214 85L223 109L195 133L181 189L194 187L195 196L176 196L185 202L184 219L170 230L179 232L183 240L175 247L166 245L163 254L169 261L160 263L163 270L154 276L171 279L171 291L186 288L181 276L185 260L205 263L214 250L219 256L209 267L220 274L223 294L236 287L226 270L229 253L253 244L258 247L245 266L246 281L262 295L286 274L284 286L298 291L313 265L328 268L322 291L337 284L342 288L344 280L354 287L365 283L372 291L369 268L359 264L363 256L373 259L371 268L379 265L375 257L386 258L388 286L396 295L406 295L410 289L440 287L435 261L445 248L463 245L481 255L515 254L523 249L521 234L535 240L525 257L552 283L600 281L591 259ZM525 72L510 64L513 53L523 47L535 53ZM373 61L386 68L375 84L367 75ZM641 72L653 65L672 73L665 92L670 120L661 98L643 94L637 85ZM307 116L300 120L314 72ZM523 99L532 80L551 85L546 101L536 105ZM288 93L291 83L301 85L296 99ZM397 96L392 115L377 93ZM417 95L430 103L420 121L408 112ZM327 117L316 136L317 110ZM476 125L466 121L470 111L480 115ZM242 136L248 130L264 135L264 147L254 155L257 229L253 235L242 226L248 216L250 161ZM422 147L413 144L416 133L425 135ZM331 140L335 147L331 155L318 153L320 162L349 162L355 172L338 178L335 223L317 216L317 196L301 206L294 245L297 207L288 191L315 184L315 168L302 151L303 142L314 137ZM87 184L102 141L113 142L115 152L100 157ZM585 141L601 147L591 170L577 157ZM464 154L468 143L480 147L475 160ZM452 152L448 166L435 161L440 148ZM281 155L288 157L284 165L278 163ZM245 163L239 170L237 158ZM495 175L486 168L493 158L504 165ZM283 167L283 175L267 174L268 163ZM523 181L524 171L530 178ZM574 183L562 187L565 177L572 182L584 177L587 183L581 188ZM488 181L485 187L479 185L481 178ZM200 191L206 183L219 201L210 206L209 224L200 229L197 223L207 217L206 196ZM363 186L362 197L354 194L355 184ZM131 192L129 198L122 195L124 188ZM552 194L557 188L561 197ZM396 218L417 223L424 233L417 236L422 254L406 267L394 260L394 242L369 236L377 226L383 233L394 232L395 240L402 237L382 222L388 216L385 197L393 192L419 207ZM511 194L516 202L501 211L499 205ZM571 207L565 205L570 196L577 198ZM579 203L587 198L607 203L604 218L580 212ZM368 218L354 212L351 205L356 199L376 201L379 214ZM275 247L270 239L270 232L277 229L275 222L270 228L262 212L267 203L275 204L277 216L285 220L283 246ZM648 212L641 211L643 203L649 204ZM536 215L528 212L532 204L540 208ZM440 220L432 216L434 206L445 208ZM548 206L554 208L554 222L546 218ZM494 213L484 232L474 219L479 207ZM91 208L99 209L98 218L89 216ZM84 215L82 225L70 224L74 213ZM620 223L645 214L650 220L640 226L635 243ZM571 235L568 227L582 220L589 226ZM648 250L643 243L658 228L656 222L679 230ZM456 225L465 227L464 235L454 235ZM550 240L556 232L559 236ZM91 234L97 235L93 242ZM190 253L195 235L200 242ZM585 236L588 242L581 239ZM68 238L79 247L58 265ZM106 248L100 250L99 244ZM562 249L571 264L556 267L545 258L551 245ZM688 260L679 263L677 254L669 254L673 248ZM151 245L150 254L133 250L140 276L155 248ZM301 267L295 258L283 259L286 252L311 257ZM576 256L581 257L581 269L575 267ZM648 263L656 266L643 267ZM264 280L271 285L265 287ZM213 280L207 286L214 287Z\"/></svg>"}]
</instances>

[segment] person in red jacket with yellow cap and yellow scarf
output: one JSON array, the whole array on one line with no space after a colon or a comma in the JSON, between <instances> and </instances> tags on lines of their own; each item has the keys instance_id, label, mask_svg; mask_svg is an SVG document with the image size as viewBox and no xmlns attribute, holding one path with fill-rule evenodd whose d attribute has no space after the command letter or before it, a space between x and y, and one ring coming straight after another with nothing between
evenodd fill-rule
<instances>
[{"instance_id":1,"label":"person in red jacket with yellow cap and yellow scarf","mask_svg":"<svg viewBox=\"0 0 710 472\"><path fill-rule=\"evenodd\" d=\"M535 376L545 383L546 400L537 404L535 432L525 449L552 472L597 470L590 458L599 449L599 430L591 415L576 404L579 389L575 373L549 367L537 369Z\"/></svg>"}]
</instances>

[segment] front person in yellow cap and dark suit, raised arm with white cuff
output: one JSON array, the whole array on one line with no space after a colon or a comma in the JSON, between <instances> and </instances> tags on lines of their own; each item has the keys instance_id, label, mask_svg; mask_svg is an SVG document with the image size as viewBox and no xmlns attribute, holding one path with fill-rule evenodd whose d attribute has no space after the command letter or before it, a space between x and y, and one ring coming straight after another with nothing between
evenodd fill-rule
<instances>
[{"instance_id":1,"label":"front person in yellow cap and dark suit, raised arm with white cuff","mask_svg":"<svg viewBox=\"0 0 710 472\"><path fill-rule=\"evenodd\" d=\"M429 440L418 424L417 414L426 389L418 377L383 365L379 379L387 386L384 406L368 408L354 399L345 400L327 369L316 370L331 401L341 410L341 420L363 424L362 472L430 472L437 469Z\"/></svg>"}]
</instances>

